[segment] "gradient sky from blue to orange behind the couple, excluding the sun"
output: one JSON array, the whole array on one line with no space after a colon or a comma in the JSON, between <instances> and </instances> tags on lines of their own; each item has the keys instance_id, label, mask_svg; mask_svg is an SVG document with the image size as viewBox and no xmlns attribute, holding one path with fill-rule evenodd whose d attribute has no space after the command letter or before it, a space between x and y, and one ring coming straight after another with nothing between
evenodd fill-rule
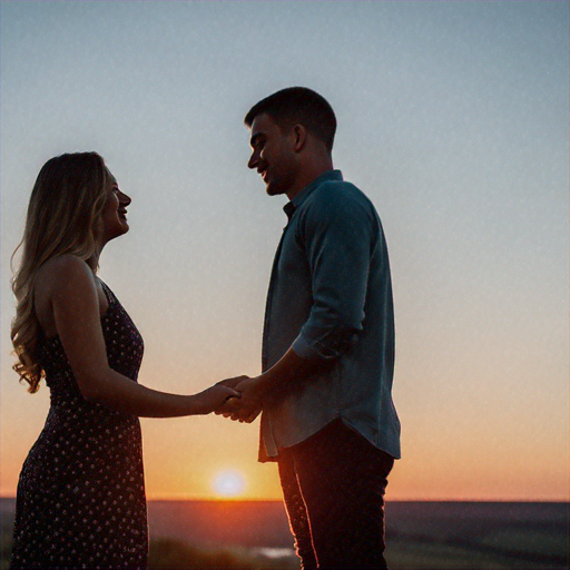
<instances>
[{"instance_id":1,"label":"gradient sky from blue to orange behind the couple, excluding the sun","mask_svg":"<svg viewBox=\"0 0 570 570\"><path fill-rule=\"evenodd\" d=\"M145 337L140 382L195 393L259 372L286 199L248 171L242 121L303 85L335 109L335 166L387 237L389 499L568 500L568 2L4 0L0 16L1 494L49 406L9 355L10 255L43 163L97 150L132 197L100 275ZM149 498L213 497L223 470L281 497L258 421L142 430Z\"/></svg>"}]
</instances>

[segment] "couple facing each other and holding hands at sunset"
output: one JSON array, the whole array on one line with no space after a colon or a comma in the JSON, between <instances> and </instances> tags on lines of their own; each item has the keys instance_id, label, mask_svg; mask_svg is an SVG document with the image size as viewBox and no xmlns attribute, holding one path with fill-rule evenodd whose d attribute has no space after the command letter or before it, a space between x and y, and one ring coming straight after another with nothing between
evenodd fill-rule
<instances>
[{"instance_id":1,"label":"couple facing each other and holding hands at sunset","mask_svg":"<svg viewBox=\"0 0 570 570\"><path fill-rule=\"evenodd\" d=\"M138 416L262 413L304 569L386 568L384 491L400 456L394 316L372 203L334 170L335 115L311 89L256 104L249 168L288 223L271 275L262 374L179 395L137 383L142 340L99 256L128 232L126 196L95 153L52 158L36 181L13 278L14 370L51 406L18 485L11 568L145 569Z\"/></svg>"}]
</instances>

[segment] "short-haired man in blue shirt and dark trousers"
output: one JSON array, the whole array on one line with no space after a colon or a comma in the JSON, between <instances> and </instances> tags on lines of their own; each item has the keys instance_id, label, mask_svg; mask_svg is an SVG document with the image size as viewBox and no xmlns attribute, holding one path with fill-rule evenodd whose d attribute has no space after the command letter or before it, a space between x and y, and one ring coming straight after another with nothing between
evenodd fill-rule
<instances>
[{"instance_id":1,"label":"short-haired man in blue shirt and dark trousers","mask_svg":"<svg viewBox=\"0 0 570 570\"><path fill-rule=\"evenodd\" d=\"M272 271L263 374L219 411L263 410L261 461L277 461L304 569L386 568L384 490L400 458L392 402L394 316L387 249L371 202L333 169L336 119L302 87L245 117L248 167L288 224Z\"/></svg>"}]
</instances>

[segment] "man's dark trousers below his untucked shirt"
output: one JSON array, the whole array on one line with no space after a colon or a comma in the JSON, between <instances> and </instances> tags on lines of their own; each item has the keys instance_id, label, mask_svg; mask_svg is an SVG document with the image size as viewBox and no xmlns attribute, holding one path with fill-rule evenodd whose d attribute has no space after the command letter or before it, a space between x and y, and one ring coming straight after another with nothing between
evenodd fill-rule
<instances>
[{"instance_id":1,"label":"man's dark trousers below his untucked shirt","mask_svg":"<svg viewBox=\"0 0 570 570\"><path fill-rule=\"evenodd\" d=\"M335 420L279 452L279 476L304 570L387 568L384 492L394 460Z\"/></svg>"}]
</instances>

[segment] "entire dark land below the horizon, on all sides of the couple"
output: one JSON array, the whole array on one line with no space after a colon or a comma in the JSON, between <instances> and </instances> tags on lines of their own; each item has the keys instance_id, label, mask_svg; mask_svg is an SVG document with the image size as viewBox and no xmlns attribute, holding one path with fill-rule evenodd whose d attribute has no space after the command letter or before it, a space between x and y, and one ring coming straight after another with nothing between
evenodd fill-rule
<instances>
[{"instance_id":1,"label":"entire dark land below the horizon, on all sides of the couple","mask_svg":"<svg viewBox=\"0 0 570 570\"><path fill-rule=\"evenodd\" d=\"M13 500L2 499L2 570ZM150 570L294 569L276 501L150 501ZM568 503L391 502L386 558L399 569L568 569Z\"/></svg>"}]
</instances>

